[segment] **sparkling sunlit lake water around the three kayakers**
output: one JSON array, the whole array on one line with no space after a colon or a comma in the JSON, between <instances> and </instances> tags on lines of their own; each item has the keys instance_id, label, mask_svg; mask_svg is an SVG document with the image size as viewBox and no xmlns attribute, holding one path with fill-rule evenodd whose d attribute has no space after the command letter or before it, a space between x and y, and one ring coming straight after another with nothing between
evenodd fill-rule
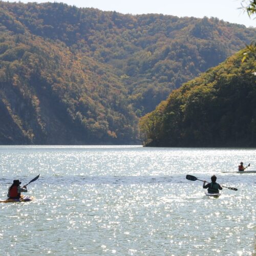
<instances>
[{"instance_id":1,"label":"sparkling sunlit lake water around the three kayakers","mask_svg":"<svg viewBox=\"0 0 256 256\"><path fill-rule=\"evenodd\" d=\"M256 150L0 146L0 255L255 255L255 175L228 174ZM201 181L223 188L207 198Z\"/></svg>"}]
</instances>

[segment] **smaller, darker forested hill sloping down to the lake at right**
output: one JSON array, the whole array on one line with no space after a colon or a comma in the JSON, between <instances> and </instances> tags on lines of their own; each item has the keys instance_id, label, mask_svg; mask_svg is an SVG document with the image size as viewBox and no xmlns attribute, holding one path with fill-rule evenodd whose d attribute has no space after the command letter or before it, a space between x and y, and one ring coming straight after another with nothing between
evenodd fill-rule
<instances>
[{"instance_id":1,"label":"smaller, darker forested hill sloping down to the lake at right","mask_svg":"<svg viewBox=\"0 0 256 256\"><path fill-rule=\"evenodd\" d=\"M148 146L256 146L256 55L244 51L173 91L140 120Z\"/></svg>"}]
</instances>

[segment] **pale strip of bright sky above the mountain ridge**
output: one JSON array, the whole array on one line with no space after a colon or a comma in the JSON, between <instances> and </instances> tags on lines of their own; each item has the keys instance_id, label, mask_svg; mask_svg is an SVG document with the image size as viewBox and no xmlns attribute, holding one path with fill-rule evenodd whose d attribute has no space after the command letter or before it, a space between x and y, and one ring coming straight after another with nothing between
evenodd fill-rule
<instances>
[{"instance_id":1,"label":"pale strip of bright sky above the mountain ridge","mask_svg":"<svg viewBox=\"0 0 256 256\"><path fill-rule=\"evenodd\" d=\"M9 2L18 1L9 0ZM256 27L255 15L254 19L250 18L240 9L243 0L20 0L19 2L61 2L76 7L93 7L102 11L116 11L123 14L162 13L178 17L218 17L225 22Z\"/></svg>"}]
</instances>

